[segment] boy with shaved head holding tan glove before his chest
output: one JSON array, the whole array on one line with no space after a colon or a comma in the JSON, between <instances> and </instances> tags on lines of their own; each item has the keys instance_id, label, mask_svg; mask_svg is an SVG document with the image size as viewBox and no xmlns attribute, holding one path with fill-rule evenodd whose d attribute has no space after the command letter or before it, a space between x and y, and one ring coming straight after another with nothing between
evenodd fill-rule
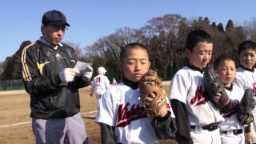
<instances>
[{"instance_id":1,"label":"boy with shaved head holding tan glove before his chest","mask_svg":"<svg viewBox=\"0 0 256 144\"><path fill-rule=\"evenodd\" d=\"M95 120L101 127L102 143L153 144L169 137L174 125L170 104L158 112L157 118L147 118L140 98L138 82L150 68L146 46L126 45L120 52L120 62L122 82L103 94ZM155 94L150 93L150 97Z\"/></svg>"}]
</instances>

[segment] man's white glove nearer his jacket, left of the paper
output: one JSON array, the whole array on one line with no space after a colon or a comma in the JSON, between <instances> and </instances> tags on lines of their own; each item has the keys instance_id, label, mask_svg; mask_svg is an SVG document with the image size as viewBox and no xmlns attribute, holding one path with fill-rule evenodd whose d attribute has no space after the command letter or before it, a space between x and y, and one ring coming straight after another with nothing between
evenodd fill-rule
<instances>
[{"instance_id":1,"label":"man's white glove nearer his jacket, left of the paper","mask_svg":"<svg viewBox=\"0 0 256 144\"><path fill-rule=\"evenodd\" d=\"M74 81L74 76L79 74L79 70L73 68L65 68L58 75L62 82Z\"/></svg>"}]
</instances>

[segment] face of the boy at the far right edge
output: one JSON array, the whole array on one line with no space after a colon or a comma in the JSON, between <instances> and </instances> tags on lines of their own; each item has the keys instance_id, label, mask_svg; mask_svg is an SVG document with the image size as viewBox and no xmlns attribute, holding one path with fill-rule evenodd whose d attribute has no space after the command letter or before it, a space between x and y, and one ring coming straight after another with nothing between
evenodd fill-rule
<instances>
[{"instance_id":1,"label":"face of the boy at the far right edge","mask_svg":"<svg viewBox=\"0 0 256 144\"><path fill-rule=\"evenodd\" d=\"M245 66L248 69L252 69L256 62L256 51L250 48L242 50L239 55L239 61L242 66Z\"/></svg>"}]
</instances>

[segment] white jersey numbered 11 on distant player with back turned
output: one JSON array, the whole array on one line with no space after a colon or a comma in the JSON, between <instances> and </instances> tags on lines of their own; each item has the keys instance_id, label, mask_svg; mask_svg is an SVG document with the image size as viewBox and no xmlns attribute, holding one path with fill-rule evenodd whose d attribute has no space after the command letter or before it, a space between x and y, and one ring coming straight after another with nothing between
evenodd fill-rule
<instances>
[{"instance_id":1,"label":"white jersey numbered 11 on distant player with back turned","mask_svg":"<svg viewBox=\"0 0 256 144\"><path fill-rule=\"evenodd\" d=\"M104 94L106 90L110 88L110 81L105 75L98 74L96 77L94 77L91 86L99 102L99 99L102 97L102 94Z\"/></svg>"}]
</instances>

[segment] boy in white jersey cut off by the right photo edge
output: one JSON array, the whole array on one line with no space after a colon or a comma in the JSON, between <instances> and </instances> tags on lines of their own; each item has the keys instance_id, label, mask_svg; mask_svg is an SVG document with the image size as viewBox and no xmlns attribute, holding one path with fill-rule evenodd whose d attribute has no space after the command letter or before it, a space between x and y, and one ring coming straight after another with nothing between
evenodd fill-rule
<instances>
[{"instance_id":1,"label":"boy in white jersey cut off by the right photo edge","mask_svg":"<svg viewBox=\"0 0 256 144\"><path fill-rule=\"evenodd\" d=\"M238 56L240 66L237 69L235 83L244 90L250 87L254 91L254 100L256 100L256 43L252 41L244 41L238 46ZM251 134L246 135L246 141L256 143L256 109L252 110L254 115L253 126L251 126Z\"/></svg>"}]
</instances>

